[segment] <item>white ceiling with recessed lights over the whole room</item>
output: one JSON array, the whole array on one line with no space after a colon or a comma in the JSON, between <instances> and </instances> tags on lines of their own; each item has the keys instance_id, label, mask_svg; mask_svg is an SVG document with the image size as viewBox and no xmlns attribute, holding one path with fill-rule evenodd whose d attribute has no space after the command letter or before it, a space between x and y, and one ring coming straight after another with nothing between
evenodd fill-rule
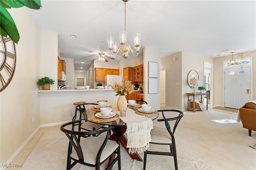
<instances>
[{"instance_id":1,"label":"white ceiling with recessed lights over the whole room","mask_svg":"<svg viewBox=\"0 0 256 170\"><path fill-rule=\"evenodd\" d=\"M41 29L58 33L60 56L74 58L76 71L86 71L98 52L114 57L102 42L110 36L119 40L124 30L122 0L41 0L41 4L40 10L28 10ZM144 46L160 49L157 57L178 51L207 57L252 51L256 50L256 1L130 0L126 31L133 49L133 34L141 34L138 56ZM122 56L114 58L118 61Z\"/></svg>"}]
</instances>

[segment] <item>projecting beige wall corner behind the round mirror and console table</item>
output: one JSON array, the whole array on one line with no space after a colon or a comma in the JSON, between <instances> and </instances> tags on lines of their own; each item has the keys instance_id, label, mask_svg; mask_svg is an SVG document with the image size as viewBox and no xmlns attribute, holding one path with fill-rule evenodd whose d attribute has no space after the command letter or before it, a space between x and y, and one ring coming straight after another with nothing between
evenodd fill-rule
<instances>
[{"instance_id":1,"label":"projecting beige wall corner behind the round mirror and console table","mask_svg":"<svg viewBox=\"0 0 256 170\"><path fill-rule=\"evenodd\" d=\"M160 69L166 69L166 106L186 110L186 93L192 93L187 83L188 72L196 70L200 85L203 85L204 61L212 62L213 59L182 51L162 57L160 61Z\"/></svg>"}]
</instances>

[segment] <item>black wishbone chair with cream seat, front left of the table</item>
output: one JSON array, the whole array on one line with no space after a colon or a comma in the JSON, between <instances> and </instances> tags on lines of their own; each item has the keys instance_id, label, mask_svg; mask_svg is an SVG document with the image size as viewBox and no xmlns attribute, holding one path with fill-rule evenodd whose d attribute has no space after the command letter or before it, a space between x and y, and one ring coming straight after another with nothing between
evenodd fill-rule
<instances>
[{"instance_id":1,"label":"black wishbone chair with cream seat, front left of the table","mask_svg":"<svg viewBox=\"0 0 256 170\"><path fill-rule=\"evenodd\" d=\"M118 170L121 170L120 143L119 141L108 140L110 130L114 127L110 126L92 131L76 131L74 125L79 121L68 122L60 127L60 130L70 140L66 169L70 170L75 164L79 163L100 170L100 166L108 161L112 154L117 154L114 160L109 162L106 169L110 169L118 161ZM101 137L96 137L98 134ZM71 160L74 162L71 163Z\"/></svg>"}]
</instances>

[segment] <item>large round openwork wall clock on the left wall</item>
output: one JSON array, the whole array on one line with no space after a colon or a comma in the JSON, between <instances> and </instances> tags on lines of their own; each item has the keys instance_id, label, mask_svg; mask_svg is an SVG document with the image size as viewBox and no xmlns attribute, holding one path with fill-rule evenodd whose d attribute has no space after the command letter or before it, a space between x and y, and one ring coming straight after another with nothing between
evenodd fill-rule
<instances>
[{"instance_id":1,"label":"large round openwork wall clock on the left wall","mask_svg":"<svg viewBox=\"0 0 256 170\"><path fill-rule=\"evenodd\" d=\"M11 82L16 67L15 43L0 36L0 92Z\"/></svg>"}]
</instances>

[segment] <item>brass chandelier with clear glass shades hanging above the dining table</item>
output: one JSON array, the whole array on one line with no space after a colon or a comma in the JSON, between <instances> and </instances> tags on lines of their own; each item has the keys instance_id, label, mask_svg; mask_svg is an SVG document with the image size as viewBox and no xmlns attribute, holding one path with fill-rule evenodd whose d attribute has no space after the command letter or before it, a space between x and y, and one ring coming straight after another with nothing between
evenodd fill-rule
<instances>
[{"instance_id":1,"label":"brass chandelier with clear glass shades hanging above the dining table","mask_svg":"<svg viewBox=\"0 0 256 170\"><path fill-rule=\"evenodd\" d=\"M126 32L126 2L128 0L122 0L124 2L124 30L119 32L119 38L120 38L120 47L118 45L118 42L115 42L113 37L108 37L107 42L108 42L108 49L111 51L113 55L118 57L118 53L122 53L122 57L124 59L127 59L129 56L130 51L132 51L132 55L135 57L138 56L138 53L140 51L140 34L134 34L133 35L133 40L134 40L134 46L135 46L135 51L132 50L131 46L129 44L126 44L126 37L127 37L127 32ZM136 53L136 54L134 54Z\"/></svg>"}]
</instances>

